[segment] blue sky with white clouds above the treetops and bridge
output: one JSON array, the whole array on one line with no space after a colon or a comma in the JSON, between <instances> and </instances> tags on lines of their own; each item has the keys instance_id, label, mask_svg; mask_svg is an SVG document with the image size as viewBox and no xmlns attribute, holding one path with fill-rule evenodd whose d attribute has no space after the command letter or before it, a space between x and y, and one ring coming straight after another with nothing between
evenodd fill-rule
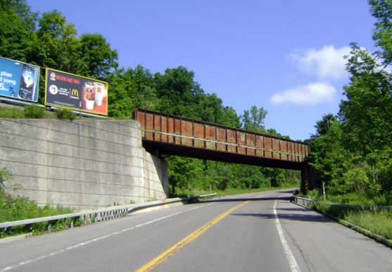
<instances>
[{"instance_id":1,"label":"blue sky with white clouds above the treetops and bridge","mask_svg":"<svg viewBox=\"0 0 392 272\"><path fill-rule=\"evenodd\" d=\"M78 34L101 33L121 67L184 66L238 114L268 111L265 128L305 140L336 114L350 42L374 51L367 0L27 0L61 11ZM110 87L109 87L110 92Z\"/></svg>"}]
</instances>

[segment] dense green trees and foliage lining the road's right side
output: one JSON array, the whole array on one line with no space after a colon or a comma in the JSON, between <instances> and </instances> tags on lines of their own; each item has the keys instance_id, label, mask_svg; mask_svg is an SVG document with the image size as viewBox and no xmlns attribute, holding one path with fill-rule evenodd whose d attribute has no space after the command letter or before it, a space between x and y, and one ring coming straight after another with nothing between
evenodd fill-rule
<instances>
[{"instance_id":1,"label":"dense green trees and foliage lining the road's right side","mask_svg":"<svg viewBox=\"0 0 392 272\"><path fill-rule=\"evenodd\" d=\"M379 49L371 54L351 44L346 99L336 116L317 122L311 165L329 193L358 194L385 205L392 204L392 1L369 0L369 5Z\"/></svg>"}]
</instances>

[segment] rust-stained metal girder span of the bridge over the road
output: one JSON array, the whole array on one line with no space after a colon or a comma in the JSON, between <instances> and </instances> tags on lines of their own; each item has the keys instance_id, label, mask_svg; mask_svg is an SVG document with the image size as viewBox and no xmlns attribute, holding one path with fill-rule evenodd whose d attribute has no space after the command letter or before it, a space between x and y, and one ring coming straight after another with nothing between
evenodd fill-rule
<instances>
[{"instance_id":1,"label":"rust-stained metal girder span of the bridge over the road","mask_svg":"<svg viewBox=\"0 0 392 272\"><path fill-rule=\"evenodd\" d=\"M225 125L134 109L143 145L161 154L301 170L308 144Z\"/></svg>"}]
</instances>

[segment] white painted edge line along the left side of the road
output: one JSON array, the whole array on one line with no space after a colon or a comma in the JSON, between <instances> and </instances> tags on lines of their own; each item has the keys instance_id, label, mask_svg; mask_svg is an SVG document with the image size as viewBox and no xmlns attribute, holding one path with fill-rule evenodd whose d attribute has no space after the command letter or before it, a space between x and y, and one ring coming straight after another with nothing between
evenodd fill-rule
<instances>
[{"instance_id":1,"label":"white painted edge line along the left side of the road","mask_svg":"<svg viewBox=\"0 0 392 272\"><path fill-rule=\"evenodd\" d=\"M62 252L67 252L68 250L75 249L75 248L77 248L77 247L82 247L82 246L84 246L84 245L89 245L89 244L91 244L91 242L96 242L96 241L99 241L99 240L102 240L102 239L111 237L111 236L113 236L113 235L118 235L118 234L120 234L120 233L125 233L125 232L127 232L127 231L129 231L129 230L134 230L135 228L140 228L140 227L142 227L142 226L144 226L144 225L148 225L148 224L151 224L151 223L154 223L154 222L157 222L157 221L161 221L161 220L163 220L163 219L170 218L170 217L172 217L172 216L177 216L177 215L179 215L179 214L184 214L184 213L187 212L187 211L192 211L192 210L195 210L195 209L199 209L199 208L202 208L202 207L204 207L204 206L209 206L209 205L211 205L211 204L214 204L214 203L209 203L209 204L206 204L206 205L203 205L203 206L196 206L196 207L194 207L194 208L192 208L192 209L189 209L189 210L186 210L186 211L179 211L178 213L170 214L170 215L168 215L168 216L163 216L163 217L160 217L160 218L156 218L156 219L154 219L154 220L152 220L152 221L148 221L148 222L146 222L146 223L141 223L141 224L139 224L139 225L134 225L133 227L130 227L130 228L125 228L125 229L123 229L123 230L116 231L115 233L110 233L110 234L108 234L108 235L103 235L103 236L101 236L101 237L96 237L96 238L94 238L94 239L87 240L87 241L85 241L85 242L81 242L81 243L79 243L79 244L72 245L72 246L70 246L70 247L65 247L65 249L60 249L60 250L57 250L57 251L54 251L54 252L50 252L50 253L48 253L48 254L44 254L44 255L38 256L38 257L36 257L36 258L27 259L26 261L21 261L21 262L18 263L18 264L13 264L13 265L11 265L11 266L6 266L6 267L3 267L3 268L0 268L0 272L4 272L4 271L7 271L7 270L10 270L10 269L13 269L13 268L18 268L18 267L20 267L20 266L24 266L25 264L31 264L31 263L33 263L34 261L39 261L39 260L41 260L41 259L45 259L45 258L47 258L47 257L53 256L53 255L56 255L56 254L60 254L60 253L62 253Z\"/></svg>"}]
</instances>

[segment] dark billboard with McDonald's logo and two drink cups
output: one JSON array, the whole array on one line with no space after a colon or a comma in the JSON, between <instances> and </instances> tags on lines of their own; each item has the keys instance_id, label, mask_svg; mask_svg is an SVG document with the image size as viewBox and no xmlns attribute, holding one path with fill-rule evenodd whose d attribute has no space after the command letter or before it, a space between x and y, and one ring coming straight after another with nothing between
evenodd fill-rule
<instances>
[{"instance_id":1,"label":"dark billboard with McDonald's logo and two drink cups","mask_svg":"<svg viewBox=\"0 0 392 272\"><path fill-rule=\"evenodd\" d=\"M45 104L108 115L108 83L46 68Z\"/></svg>"}]
</instances>

